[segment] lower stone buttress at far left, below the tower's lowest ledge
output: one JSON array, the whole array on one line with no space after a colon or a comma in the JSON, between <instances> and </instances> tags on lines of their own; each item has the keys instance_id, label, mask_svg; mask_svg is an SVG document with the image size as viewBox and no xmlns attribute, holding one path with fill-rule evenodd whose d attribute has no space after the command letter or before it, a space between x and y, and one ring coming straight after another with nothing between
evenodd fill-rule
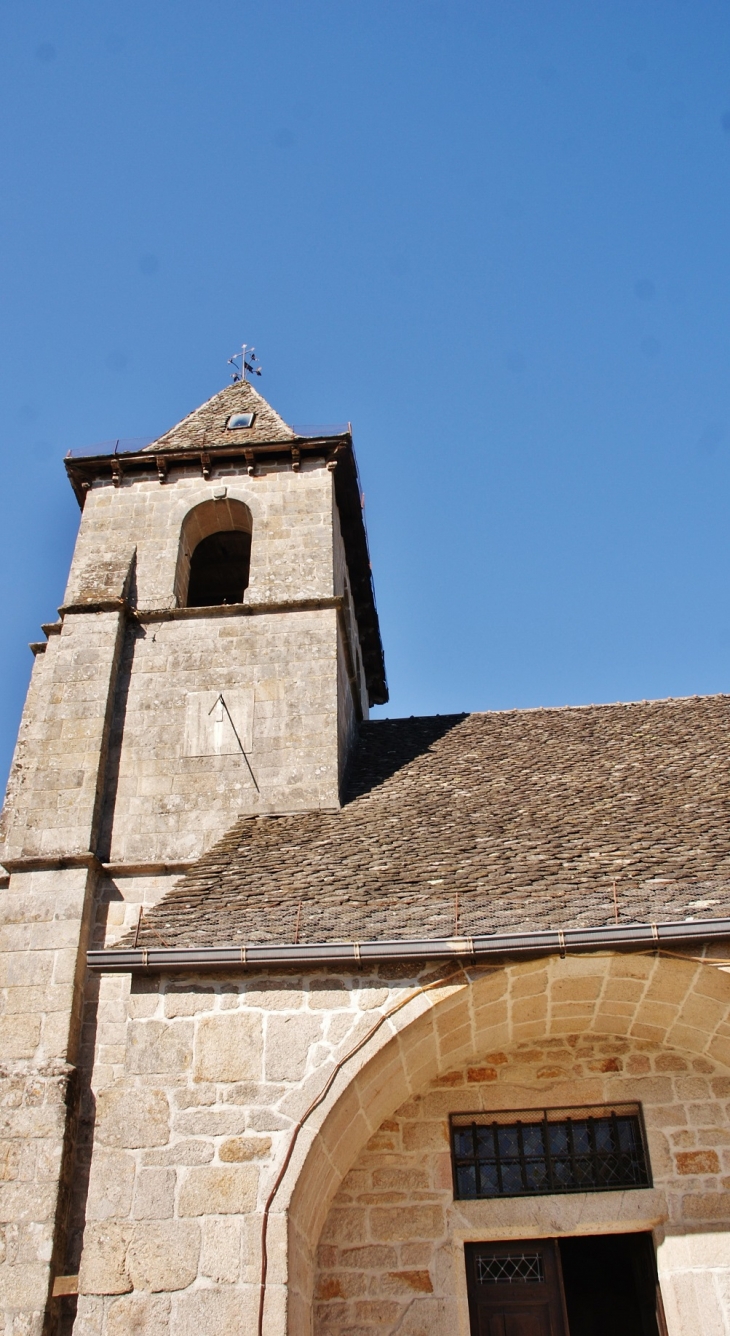
<instances>
[{"instance_id":1,"label":"lower stone buttress at far left, below the tower's lowest ledge","mask_svg":"<svg viewBox=\"0 0 730 1336\"><path fill-rule=\"evenodd\" d=\"M94 874L13 872L0 896L0 1308L40 1336L63 1217L67 1082ZM91 883L91 884L90 884Z\"/></svg>"}]
</instances>

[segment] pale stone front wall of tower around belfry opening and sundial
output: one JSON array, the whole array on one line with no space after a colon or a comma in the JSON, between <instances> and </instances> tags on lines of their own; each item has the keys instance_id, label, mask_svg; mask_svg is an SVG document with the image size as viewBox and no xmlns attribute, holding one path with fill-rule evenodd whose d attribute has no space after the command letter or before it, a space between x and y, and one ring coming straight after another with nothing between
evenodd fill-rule
<instances>
[{"instance_id":1,"label":"pale stone front wall of tower around belfry opening and sundial","mask_svg":"<svg viewBox=\"0 0 730 1336\"><path fill-rule=\"evenodd\" d=\"M346 607L340 616L334 608L257 616L231 609L230 616L171 620L142 612L127 624L99 848L104 860L193 860L242 812L340 802L353 692L364 712L366 693L332 474L321 461L308 461L301 473L271 466L249 477L217 469L203 480L172 470L164 484L95 485L66 604L95 596L102 574L106 580L112 568L128 566L136 552L138 608L171 611L183 518L221 484L227 500L243 501L253 516L245 605L338 593ZM344 627L360 681L348 680ZM55 637L45 657L53 653ZM197 691L250 691L255 783L242 755L186 755L186 703Z\"/></svg>"}]
</instances>

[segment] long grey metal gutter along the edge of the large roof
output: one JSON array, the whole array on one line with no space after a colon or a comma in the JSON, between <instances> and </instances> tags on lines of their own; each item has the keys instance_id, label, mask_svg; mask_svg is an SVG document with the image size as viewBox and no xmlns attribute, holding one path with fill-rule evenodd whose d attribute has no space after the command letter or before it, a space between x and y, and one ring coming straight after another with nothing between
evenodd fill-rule
<instances>
[{"instance_id":1,"label":"long grey metal gutter along the edge of the large roof","mask_svg":"<svg viewBox=\"0 0 730 1336\"><path fill-rule=\"evenodd\" d=\"M286 965L370 965L397 961L484 959L496 955L566 955L568 951L682 946L730 938L730 918L679 923L630 923L626 927L578 927L484 937L409 938L400 942L320 942L313 946L136 947L88 951L91 970L135 974L140 970L281 969Z\"/></svg>"}]
</instances>

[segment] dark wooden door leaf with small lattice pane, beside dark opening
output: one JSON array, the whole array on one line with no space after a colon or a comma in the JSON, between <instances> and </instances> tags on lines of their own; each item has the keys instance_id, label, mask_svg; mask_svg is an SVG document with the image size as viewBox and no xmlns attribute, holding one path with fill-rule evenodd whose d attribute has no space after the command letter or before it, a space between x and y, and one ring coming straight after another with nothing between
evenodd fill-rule
<instances>
[{"instance_id":1,"label":"dark wooden door leaf with small lattice pane, beside dark opening","mask_svg":"<svg viewBox=\"0 0 730 1336\"><path fill-rule=\"evenodd\" d=\"M464 1250L472 1336L568 1336L555 1238Z\"/></svg>"}]
</instances>

